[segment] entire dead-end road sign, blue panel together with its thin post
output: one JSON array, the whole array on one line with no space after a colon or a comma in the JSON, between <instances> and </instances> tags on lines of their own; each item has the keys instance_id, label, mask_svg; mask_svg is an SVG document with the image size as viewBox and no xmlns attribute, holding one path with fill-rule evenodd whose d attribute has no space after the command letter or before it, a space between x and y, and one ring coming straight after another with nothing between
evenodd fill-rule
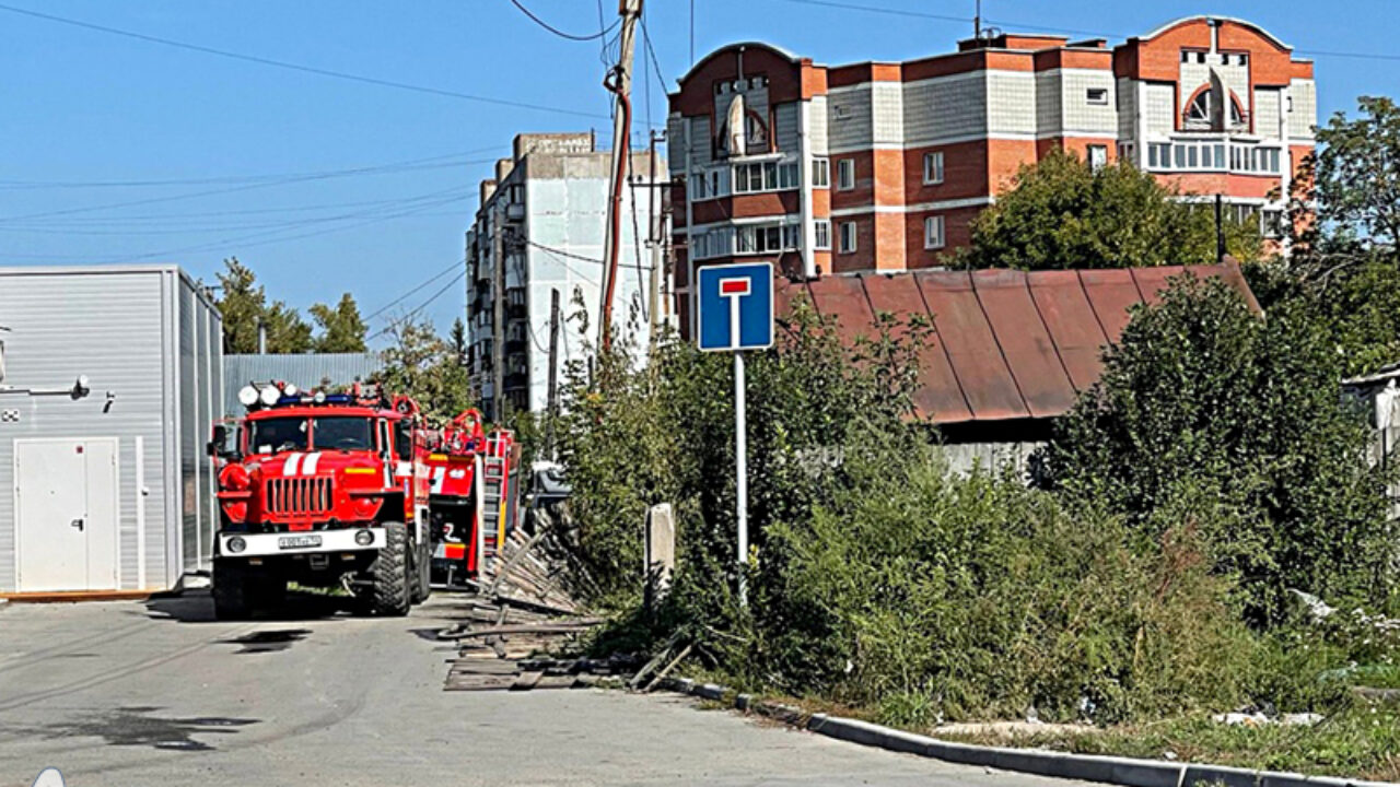
<instances>
[{"instance_id":1,"label":"entire dead-end road sign, blue panel together with its thin post","mask_svg":"<svg viewBox=\"0 0 1400 787\"><path fill-rule=\"evenodd\" d=\"M714 265L696 273L699 343L703 351L734 353L735 522L739 604L748 605L743 567L749 559L749 424L745 350L773 346L773 263ZM728 301L728 302L727 302Z\"/></svg>"}]
</instances>

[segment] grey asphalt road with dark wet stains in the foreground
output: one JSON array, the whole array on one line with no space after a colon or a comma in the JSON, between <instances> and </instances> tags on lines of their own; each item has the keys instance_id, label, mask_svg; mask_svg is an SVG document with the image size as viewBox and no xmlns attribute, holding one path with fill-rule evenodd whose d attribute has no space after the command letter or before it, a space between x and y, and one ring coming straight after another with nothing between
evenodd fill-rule
<instances>
[{"instance_id":1,"label":"grey asphalt road with dark wet stains in the foreground","mask_svg":"<svg viewBox=\"0 0 1400 787\"><path fill-rule=\"evenodd\" d=\"M220 623L203 592L0 609L0 786L939 784L1064 787L603 690L444 692L431 632L314 597Z\"/></svg>"}]
</instances>

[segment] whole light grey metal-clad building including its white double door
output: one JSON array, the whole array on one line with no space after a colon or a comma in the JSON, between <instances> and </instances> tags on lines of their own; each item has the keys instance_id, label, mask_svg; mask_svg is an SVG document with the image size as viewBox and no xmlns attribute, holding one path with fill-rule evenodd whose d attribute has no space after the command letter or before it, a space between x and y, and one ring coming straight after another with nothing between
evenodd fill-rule
<instances>
[{"instance_id":1,"label":"whole light grey metal-clad building including its white double door","mask_svg":"<svg viewBox=\"0 0 1400 787\"><path fill-rule=\"evenodd\" d=\"M171 265L0 269L0 595L210 567L223 323Z\"/></svg>"}]
</instances>

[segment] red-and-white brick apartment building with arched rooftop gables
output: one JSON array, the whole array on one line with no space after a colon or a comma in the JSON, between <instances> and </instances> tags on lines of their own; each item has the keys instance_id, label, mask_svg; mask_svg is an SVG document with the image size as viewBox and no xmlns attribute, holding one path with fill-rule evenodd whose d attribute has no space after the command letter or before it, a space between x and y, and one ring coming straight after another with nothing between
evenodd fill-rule
<instances>
[{"instance_id":1,"label":"red-and-white brick apartment building with arched rooftop gables","mask_svg":"<svg viewBox=\"0 0 1400 787\"><path fill-rule=\"evenodd\" d=\"M935 267L1022 164L1127 160L1222 195L1275 231L1313 150L1313 64L1263 28L1190 17L1103 39L995 34L902 63L822 66L767 43L718 49L668 118L675 286L771 259L790 276Z\"/></svg>"}]
</instances>

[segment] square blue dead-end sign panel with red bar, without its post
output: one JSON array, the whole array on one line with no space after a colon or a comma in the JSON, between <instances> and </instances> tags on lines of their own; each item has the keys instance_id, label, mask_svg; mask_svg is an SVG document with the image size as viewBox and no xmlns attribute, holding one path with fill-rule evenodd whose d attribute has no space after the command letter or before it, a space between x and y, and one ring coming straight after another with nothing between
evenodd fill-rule
<instances>
[{"instance_id":1,"label":"square blue dead-end sign panel with red bar, without its post","mask_svg":"<svg viewBox=\"0 0 1400 787\"><path fill-rule=\"evenodd\" d=\"M700 349L773 346L773 263L710 265L696 272Z\"/></svg>"}]
</instances>

